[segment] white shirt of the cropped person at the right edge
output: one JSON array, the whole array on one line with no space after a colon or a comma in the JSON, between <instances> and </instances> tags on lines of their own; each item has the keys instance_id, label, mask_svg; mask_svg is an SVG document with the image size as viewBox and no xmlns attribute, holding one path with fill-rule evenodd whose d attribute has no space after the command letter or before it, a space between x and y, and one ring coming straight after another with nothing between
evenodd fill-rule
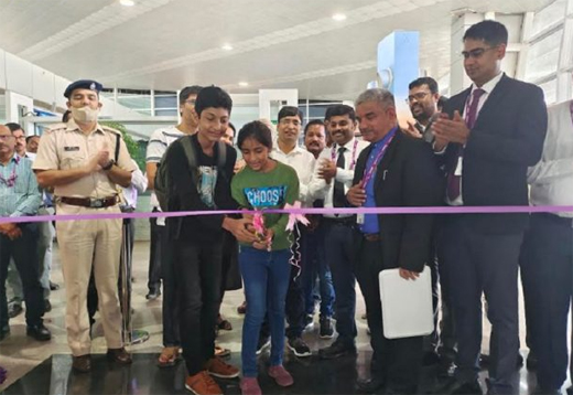
<instances>
[{"instance_id":1,"label":"white shirt of the cropped person at the right edge","mask_svg":"<svg viewBox=\"0 0 573 395\"><path fill-rule=\"evenodd\" d=\"M571 100L548 109L541 161L528 171L531 205L573 205L573 115ZM573 213L556 213L573 218Z\"/></svg>"}]
</instances>

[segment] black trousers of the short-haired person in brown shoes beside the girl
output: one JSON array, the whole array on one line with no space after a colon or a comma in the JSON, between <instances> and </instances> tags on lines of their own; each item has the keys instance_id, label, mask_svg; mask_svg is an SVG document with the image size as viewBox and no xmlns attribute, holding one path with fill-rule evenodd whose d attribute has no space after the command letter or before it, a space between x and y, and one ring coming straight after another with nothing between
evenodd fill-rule
<instances>
[{"instance_id":1,"label":"black trousers of the short-haired person in brown shoes beside the girl","mask_svg":"<svg viewBox=\"0 0 573 395\"><path fill-rule=\"evenodd\" d=\"M190 375L205 370L214 355L215 324L220 303L221 243L173 242L180 333Z\"/></svg>"}]
</instances>

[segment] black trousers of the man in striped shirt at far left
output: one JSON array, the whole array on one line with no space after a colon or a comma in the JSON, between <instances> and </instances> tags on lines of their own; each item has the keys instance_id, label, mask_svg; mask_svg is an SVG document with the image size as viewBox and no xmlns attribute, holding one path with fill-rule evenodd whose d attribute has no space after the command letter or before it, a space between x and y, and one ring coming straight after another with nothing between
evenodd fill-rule
<instances>
[{"instance_id":1,"label":"black trousers of the man in striped shirt at far left","mask_svg":"<svg viewBox=\"0 0 573 395\"><path fill-rule=\"evenodd\" d=\"M13 241L0 234L0 328L8 325L8 301L6 297L6 277L10 257L14 258L18 274L22 280L25 301L25 321L28 325L43 322L44 289L40 284L37 264L37 224L20 224L22 236Z\"/></svg>"}]
</instances>

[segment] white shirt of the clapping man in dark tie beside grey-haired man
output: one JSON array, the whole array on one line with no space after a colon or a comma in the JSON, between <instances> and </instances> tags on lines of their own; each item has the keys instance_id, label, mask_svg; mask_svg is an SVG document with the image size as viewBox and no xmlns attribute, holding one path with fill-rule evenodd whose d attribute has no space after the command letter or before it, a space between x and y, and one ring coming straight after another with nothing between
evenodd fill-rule
<instances>
[{"instance_id":1,"label":"white shirt of the clapping man in dark tie beside grey-haired man","mask_svg":"<svg viewBox=\"0 0 573 395\"><path fill-rule=\"evenodd\" d=\"M354 145L356 143L356 150L354 150ZM358 160L358 157L360 156L360 152L367 148L370 143L364 140L358 140L356 138L353 138L350 141L348 141L346 145L342 146L345 149L344 151L344 169L336 169L336 175L331 181L331 183L326 183L324 179L321 179L318 177L318 170L321 169L321 163L324 160L332 161L333 160L333 152L334 161L336 162L338 159L338 146L333 145L332 148L325 148L321 154L318 156L318 159L316 160L316 167L314 169L314 173L311 180L310 184L310 194L314 196L314 199L324 199L324 207L333 207L333 198L334 198L334 182L338 181L344 184L344 193L348 192L348 189L353 186L353 180L354 180L354 169L356 168L356 161ZM354 163L354 166L353 166ZM350 169L350 166L353 168ZM349 215L333 215L333 214L325 214L326 217L344 217Z\"/></svg>"}]
</instances>

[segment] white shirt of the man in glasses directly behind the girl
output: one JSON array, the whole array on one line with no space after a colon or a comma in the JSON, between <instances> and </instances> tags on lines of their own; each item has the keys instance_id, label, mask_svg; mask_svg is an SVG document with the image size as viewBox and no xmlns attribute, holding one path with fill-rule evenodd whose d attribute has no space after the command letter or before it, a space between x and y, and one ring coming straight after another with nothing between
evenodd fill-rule
<instances>
[{"instance_id":1,"label":"white shirt of the man in glasses directly behind the girl","mask_svg":"<svg viewBox=\"0 0 573 395\"><path fill-rule=\"evenodd\" d=\"M314 156L299 146L295 146L291 152L284 153L275 141L271 158L290 166L296 171L296 175L299 175L299 201L303 207L312 206L314 199L309 192L309 184L316 162Z\"/></svg>"}]
</instances>

